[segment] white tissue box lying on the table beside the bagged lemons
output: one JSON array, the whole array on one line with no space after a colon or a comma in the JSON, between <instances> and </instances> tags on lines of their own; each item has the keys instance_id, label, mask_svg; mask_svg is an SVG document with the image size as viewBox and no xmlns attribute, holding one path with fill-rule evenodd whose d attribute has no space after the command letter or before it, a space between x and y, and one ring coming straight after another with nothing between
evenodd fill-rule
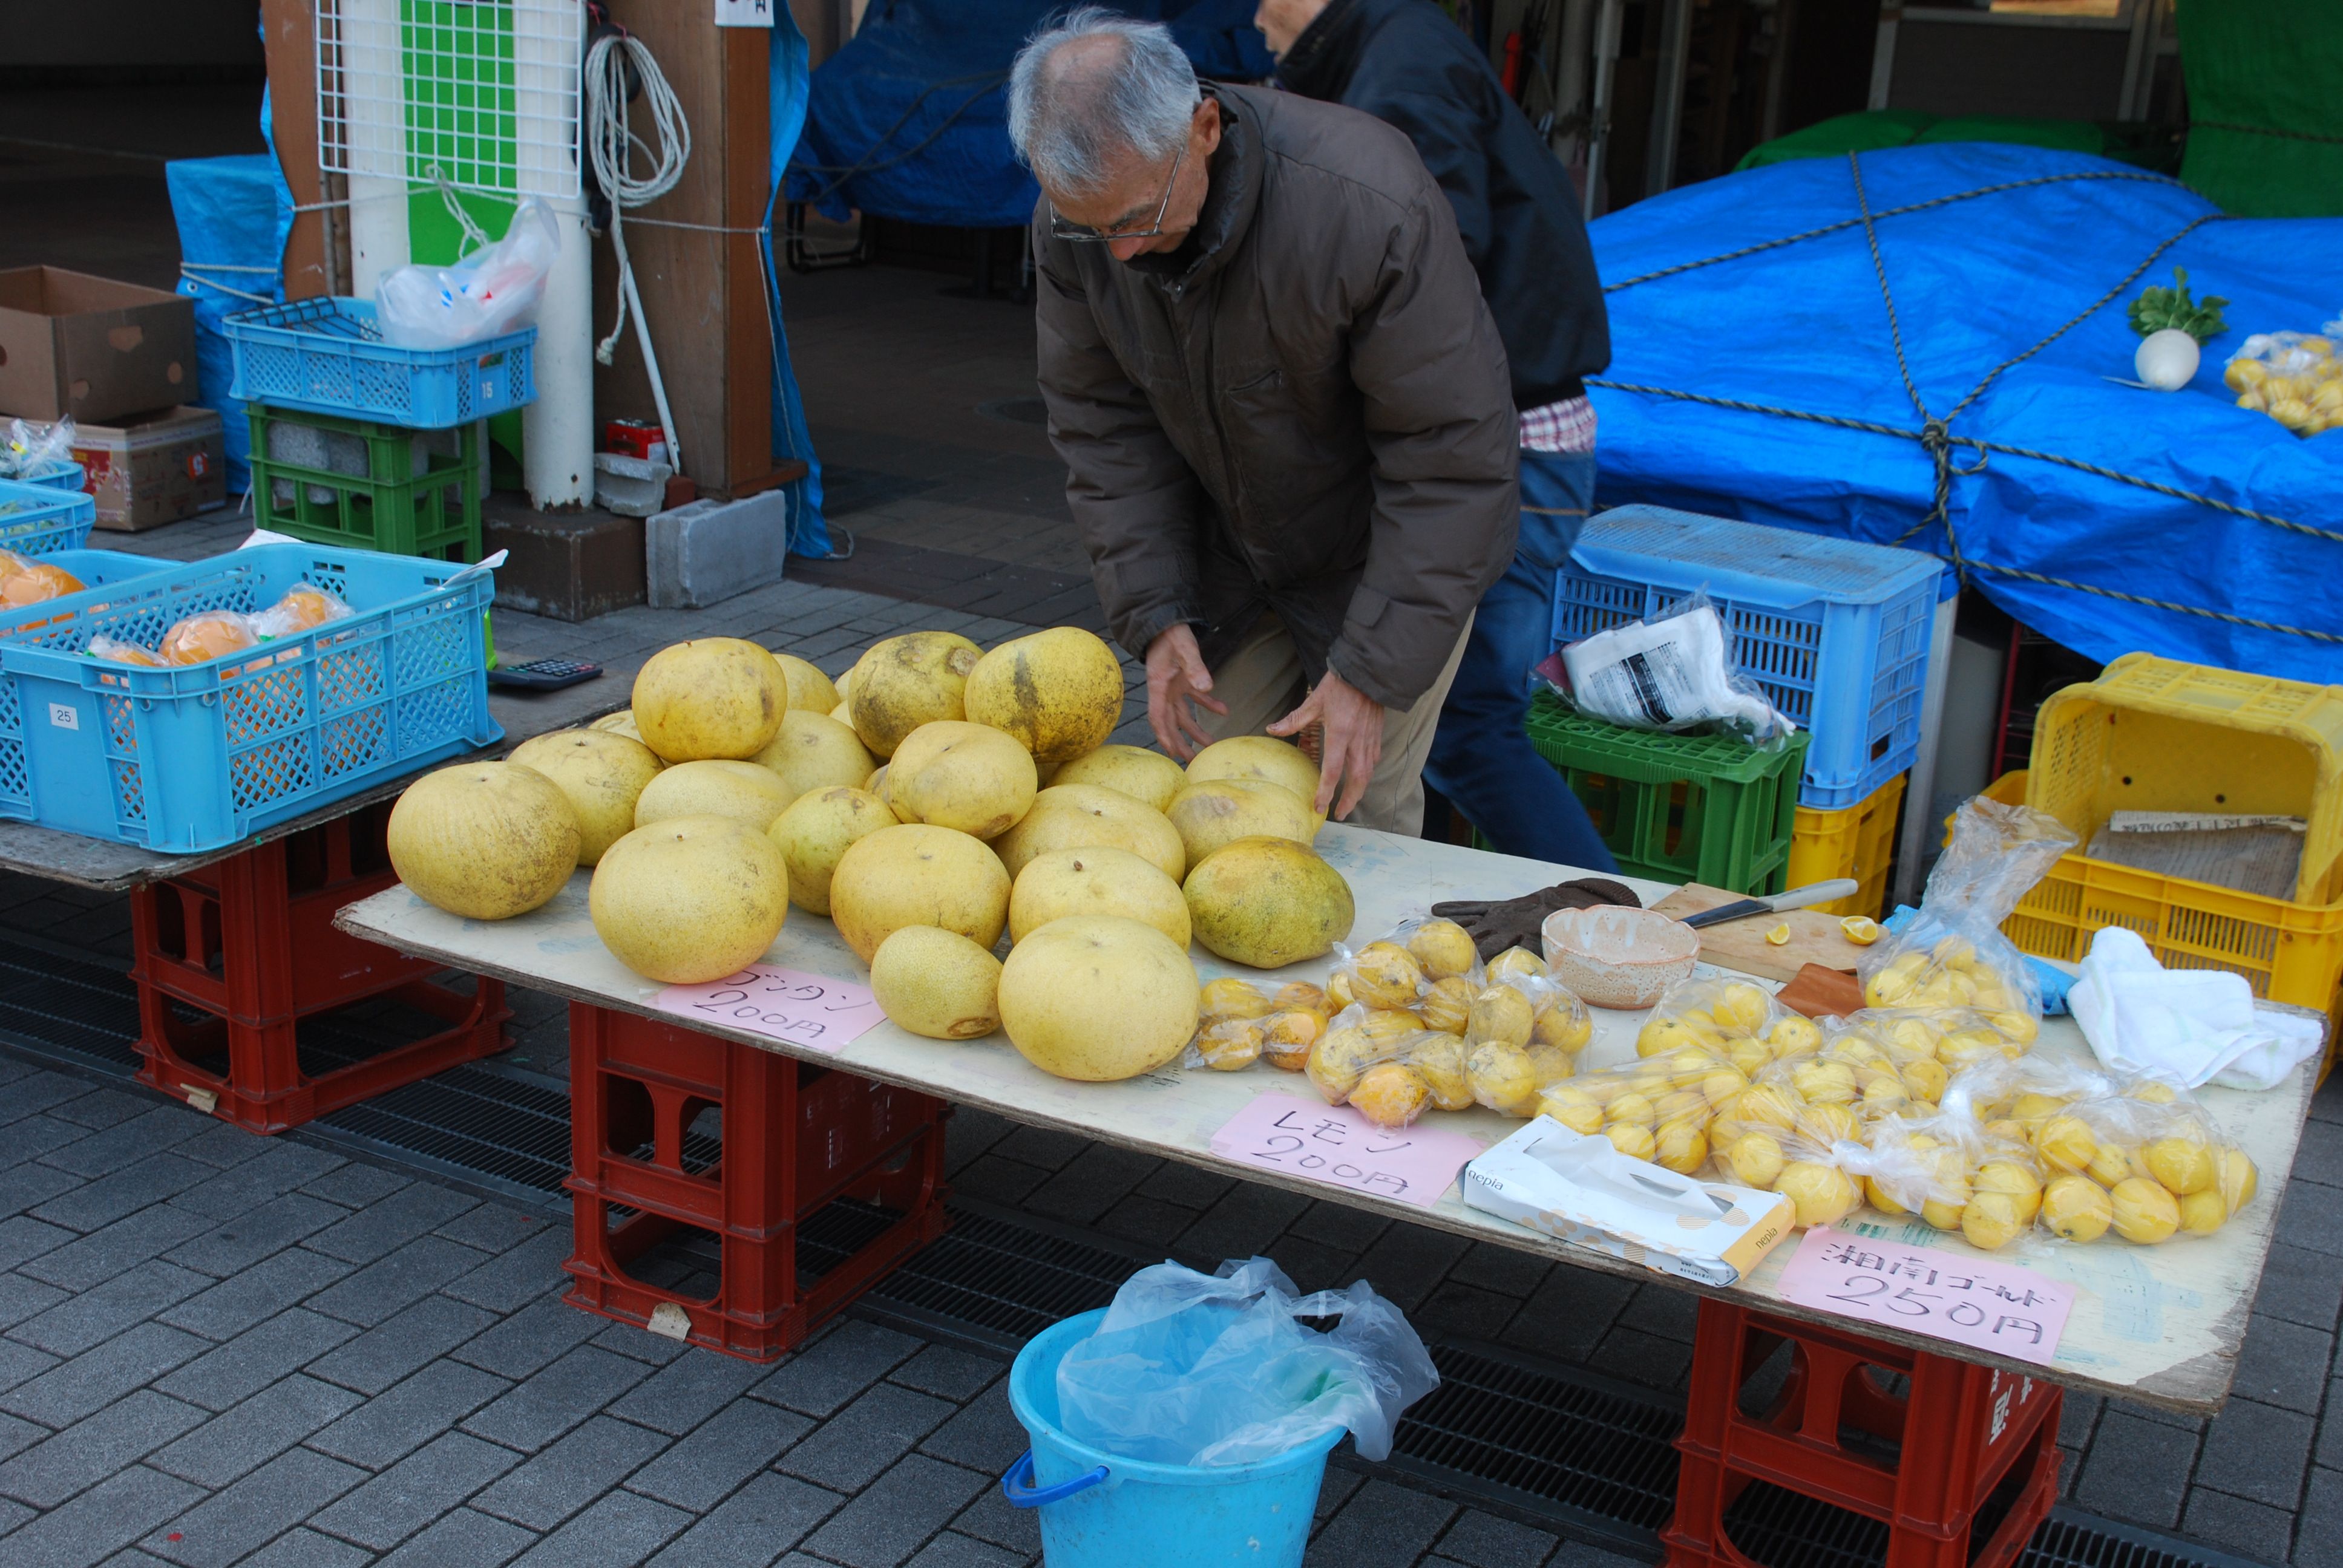
<instances>
[{"instance_id":1,"label":"white tissue box lying on the table beside the bagged lemons","mask_svg":"<svg viewBox=\"0 0 2343 1568\"><path fill-rule=\"evenodd\" d=\"M1464 1202L1699 1284L1736 1284L1790 1235L1778 1193L1696 1181L1539 1116L1464 1167Z\"/></svg>"}]
</instances>

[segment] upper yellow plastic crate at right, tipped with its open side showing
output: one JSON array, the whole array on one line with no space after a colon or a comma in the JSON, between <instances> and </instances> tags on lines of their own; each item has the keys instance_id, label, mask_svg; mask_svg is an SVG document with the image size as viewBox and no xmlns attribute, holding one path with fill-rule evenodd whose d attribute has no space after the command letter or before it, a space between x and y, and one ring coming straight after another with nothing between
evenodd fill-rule
<instances>
[{"instance_id":1,"label":"upper yellow plastic crate at right, tipped with its open side showing","mask_svg":"<svg viewBox=\"0 0 2343 1568\"><path fill-rule=\"evenodd\" d=\"M2125 654L2045 698L2027 802L2085 844L2116 811L2298 816L2296 905L2343 900L2343 687Z\"/></svg>"}]
</instances>

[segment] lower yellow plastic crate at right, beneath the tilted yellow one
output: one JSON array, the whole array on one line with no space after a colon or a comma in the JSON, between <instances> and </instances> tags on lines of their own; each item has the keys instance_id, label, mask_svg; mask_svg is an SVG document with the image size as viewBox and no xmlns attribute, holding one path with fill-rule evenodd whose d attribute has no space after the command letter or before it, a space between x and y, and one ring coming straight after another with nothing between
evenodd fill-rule
<instances>
[{"instance_id":1,"label":"lower yellow plastic crate at right, beneath the tilted yellow one","mask_svg":"<svg viewBox=\"0 0 2343 1568\"><path fill-rule=\"evenodd\" d=\"M2027 773L2003 773L1985 795L2020 804L2027 788ZM2343 1031L2343 900L2303 905L2059 855L2001 933L2020 952L2081 963L2102 926L2137 930L2165 968L2226 968L2254 996L2317 1008Z\"/></svg>"}]
</instances>

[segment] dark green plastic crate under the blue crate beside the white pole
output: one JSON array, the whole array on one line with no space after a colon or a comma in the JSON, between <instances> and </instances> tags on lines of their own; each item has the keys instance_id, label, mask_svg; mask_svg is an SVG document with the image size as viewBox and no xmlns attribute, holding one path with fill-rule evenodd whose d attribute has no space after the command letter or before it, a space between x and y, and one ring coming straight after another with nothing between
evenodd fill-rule
<instances>
[{"instance_id":1,"label":"dark green plastic crate under the blue crate beside the white pole","mask_svg":"<svg viewBox=\"0 0 2343 1568\"><path fill-rule=\"evenodd\" d=\"M387 555L480 558L478 424L412 431L260 403L246 413L260 527Z\"/></svg>"}]
</instances>

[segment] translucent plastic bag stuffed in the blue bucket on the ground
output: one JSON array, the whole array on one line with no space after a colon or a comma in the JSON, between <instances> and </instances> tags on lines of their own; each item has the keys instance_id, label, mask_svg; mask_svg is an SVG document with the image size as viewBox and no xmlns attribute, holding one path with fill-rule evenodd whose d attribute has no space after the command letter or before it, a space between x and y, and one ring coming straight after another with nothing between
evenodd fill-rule
<instances>
[{"instance_id":1,"label":"translucent plastic bag stuffed in the blue bucket on the ground","mask_svg":"<svg viewBox=\"0 0 2343 1568\"><path fill-rule=\"evenodd\" d=\"M1340 1317L1331 1331L1303 1317ZM1249 1465L1350 1427L1392 1453L1399 1413L1439 1388L1425 1341L1366 1280L1296 1296L1268 1259L1200 1275L1141 1268L1057 1366L1066 1434L1155 1465Z\"/></svg>"}]
</instances>

